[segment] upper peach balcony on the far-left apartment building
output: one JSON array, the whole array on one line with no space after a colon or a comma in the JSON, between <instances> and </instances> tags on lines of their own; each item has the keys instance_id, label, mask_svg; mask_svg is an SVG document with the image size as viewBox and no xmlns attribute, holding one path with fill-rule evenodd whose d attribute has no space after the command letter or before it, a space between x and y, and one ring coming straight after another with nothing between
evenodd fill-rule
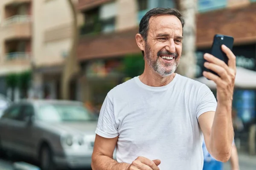
<instances>
[{"instance_id":1,"label":"upper peach balcony on the far-left apartment building","mask_svg":"<svg viewBox=\"0 0 256 170\"><path fill-rule=\"evenodd\" d=\"M31 38L31 16L14 15L3 21L1 32L4 40Z\"/></svg>"}]
</instances>

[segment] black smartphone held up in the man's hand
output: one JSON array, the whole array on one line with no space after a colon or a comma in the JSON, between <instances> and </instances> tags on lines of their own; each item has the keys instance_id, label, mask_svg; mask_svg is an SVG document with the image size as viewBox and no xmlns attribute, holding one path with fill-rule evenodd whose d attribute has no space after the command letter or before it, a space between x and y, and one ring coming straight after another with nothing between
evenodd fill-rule
<instances>
[{"instance_id":1,"label":"black smartphone held up in the man's hand","mask_svg":"<svg viewBox=\"0 0 256 170\"><path fill-rule=\"evenodd\" d=\"M210 54L217 57L218 59L221 59L222 61L224 61L227 64L228 63L228 58L227 58L227 55L221 49L222 44L226 45L232 51L233 50L233 44L234 44L234 38L230 37L230 36L227 36L227 35L216 34L213 38L212 48L211 48L211 53ZM205 68L205 71L209 71L209 72L218 76L217 73L215 73L214 71L211 71L207 68Z\"/></svg>"}]
</instances>

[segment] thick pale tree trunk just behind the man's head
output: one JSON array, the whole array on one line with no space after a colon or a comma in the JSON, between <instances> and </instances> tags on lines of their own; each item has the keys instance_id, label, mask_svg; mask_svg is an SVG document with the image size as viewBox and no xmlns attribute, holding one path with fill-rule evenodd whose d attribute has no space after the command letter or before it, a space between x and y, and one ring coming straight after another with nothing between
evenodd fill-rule
<instances>
[{"instance_id":1,"label":"thick pale tree trunk just behind the man's head","mask_svg":"<svg viewBox=\"0 0 256 170\"><path fill-rule=\"evenodd\" d=\"M196 68L196 0L175 0L177 8L184 16L183 50L177 73L194 78Z\"/></svg>"}]
</instances>

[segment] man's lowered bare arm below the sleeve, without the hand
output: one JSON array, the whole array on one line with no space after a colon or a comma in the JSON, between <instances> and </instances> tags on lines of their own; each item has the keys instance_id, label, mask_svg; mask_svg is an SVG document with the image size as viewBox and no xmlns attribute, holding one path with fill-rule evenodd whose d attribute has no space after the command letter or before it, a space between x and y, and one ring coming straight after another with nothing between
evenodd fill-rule
<instances>
[{"instance_id":1,"label":"man's lowered bare arm below the sleeve, without the hand","mask_svg":"<svg viewBox=\"0 0 256 170\"><path fill-rule=\"evenodd\" d=\"M117 139L118 137L108 139L96 135L91 164L93 170L126 170L128 168L129 164L118 163L113 159Z\"/></svg>"}]
</instances>

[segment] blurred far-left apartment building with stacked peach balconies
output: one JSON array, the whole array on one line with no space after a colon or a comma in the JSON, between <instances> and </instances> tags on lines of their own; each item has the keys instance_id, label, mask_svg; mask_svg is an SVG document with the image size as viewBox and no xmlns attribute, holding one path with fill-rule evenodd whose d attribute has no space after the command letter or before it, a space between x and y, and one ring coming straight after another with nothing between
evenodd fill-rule
<instances>
[{"instance_id":1,"label":"blurred far-left apartment building with stacked peach balconies","mask_svg":"<svg viewBox=\"0 0 256 170\"><path fill-rule=\"evenodd\" d=\"M15 93L6 85L6 76L31 69L32 0L0 1L0 93Z\"/></svg>"}]
</instances>

